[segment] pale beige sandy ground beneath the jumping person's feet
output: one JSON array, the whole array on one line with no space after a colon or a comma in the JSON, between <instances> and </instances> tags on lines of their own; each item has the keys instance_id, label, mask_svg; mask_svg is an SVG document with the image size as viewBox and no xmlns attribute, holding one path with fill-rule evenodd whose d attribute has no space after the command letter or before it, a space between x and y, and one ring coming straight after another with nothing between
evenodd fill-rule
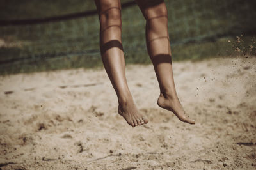
<instances>
[{"instance_id":1,"label":"pale beige sandy ground beneath the jumping person's feet","mask_svg":"<svg viewBox=\"0 0 256 170\"><path fill-rule=\"evenodd\" d=\"M1 169L256 169L256 58L173 63L196 125L157 106L150 66L127 66L130 127L103 69L0 77Z\"/></svg>"}]
</instances>

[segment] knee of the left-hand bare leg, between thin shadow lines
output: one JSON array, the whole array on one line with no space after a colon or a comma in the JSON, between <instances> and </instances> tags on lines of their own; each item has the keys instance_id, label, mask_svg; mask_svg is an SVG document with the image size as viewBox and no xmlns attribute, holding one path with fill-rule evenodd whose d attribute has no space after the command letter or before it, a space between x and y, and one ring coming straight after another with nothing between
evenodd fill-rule
<instances>
[{"instance_id":1,"label":"knee of the left-hand bare leg, between thin shadow lines","mask_svg":"<svg viewBox=\"0 0 256 170\"><path fill-rule=\"evenodd\" d=\"M100 24L102 26L121 26L122 20L120 9L116 7L110 7L104 12L100 13Z\"/></svg>"}]
</instances>

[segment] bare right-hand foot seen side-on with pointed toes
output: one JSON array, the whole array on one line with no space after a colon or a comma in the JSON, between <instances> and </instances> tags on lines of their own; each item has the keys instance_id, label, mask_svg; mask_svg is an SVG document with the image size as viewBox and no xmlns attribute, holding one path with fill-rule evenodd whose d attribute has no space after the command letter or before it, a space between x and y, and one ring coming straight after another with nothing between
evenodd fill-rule
<instances>
[{"instance_id":1,"label":"bare right-hand foot seen side-on with pointed toes","mask_svg":"<svg viewBox=\"0 0 256 170\"><path fill-rule=\"evenodd\" d=\"M163 93L161 93L157 100L157 104L163 109L172 111L179 118L179 120L186 123L195 124L195 120L192 120L188 115L186 115L186 112L184 111L178 98L174 99L170 95L163 95Z\"/></svg>"}]
</instances>

